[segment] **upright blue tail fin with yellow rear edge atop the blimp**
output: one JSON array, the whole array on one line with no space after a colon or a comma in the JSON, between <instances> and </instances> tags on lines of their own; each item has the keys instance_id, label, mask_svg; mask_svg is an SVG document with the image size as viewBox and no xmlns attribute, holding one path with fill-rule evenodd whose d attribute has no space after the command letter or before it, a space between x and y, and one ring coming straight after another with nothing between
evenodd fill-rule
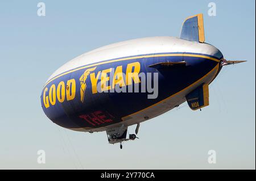
<instances>
[{"instance_id":1,"label":"upright blue tail fin with yellow rear edge atop the blimp","mask_svg":"<svg viewBox=\"0 0 256 181\"><path fill-rule=\"evenodd\" d=\"M203 14L189 16L187 19L185 19L181 29L180 39L204 43L205 37Z\"/></svg>"}]
</instances>

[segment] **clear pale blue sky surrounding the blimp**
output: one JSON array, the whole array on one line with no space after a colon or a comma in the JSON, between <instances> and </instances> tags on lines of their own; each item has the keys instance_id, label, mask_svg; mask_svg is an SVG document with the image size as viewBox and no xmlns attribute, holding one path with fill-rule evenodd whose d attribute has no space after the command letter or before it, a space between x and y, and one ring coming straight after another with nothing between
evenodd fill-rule
<instances>
[{"instance_id":1,"label":"clear pale blue sky surrounding the blimp","mask_svg":"<svg viewBox=\"0 0 256 181\"><path fill-rule=\"evenodd\" d=\"M255 169L254 0L42 1L44 17L38 2L0 1L0 169ZM209 2L216 16L208 16ZM247 60L222 69L203 111L184 103L146 121L123 150L105 132L69 131L44 115L43 85L65 62L117 41L179 36L198 13L207 43L228 60ZM45 164L37 163L41 149Z\"/></svg>"}]
</instances>

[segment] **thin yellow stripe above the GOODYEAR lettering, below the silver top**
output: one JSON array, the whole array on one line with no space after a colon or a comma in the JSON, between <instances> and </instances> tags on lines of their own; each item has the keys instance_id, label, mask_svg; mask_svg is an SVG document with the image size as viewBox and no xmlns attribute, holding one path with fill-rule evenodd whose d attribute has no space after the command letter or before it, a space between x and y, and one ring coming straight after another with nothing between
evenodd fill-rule
<instances>
[{"instance_id":1,"label":"thin yellow stripe above the GOODYEAR lettering, below the silver top","mask_svg":"<svg viewBox=\"0 0 256 181\"><path fill-rule=\"evenodd\" d=\"M179 57L179 56L184 56L184 57L199 57L199 58L207 58L209 60L213 60L213 61L216 61L216 62L220 62L218 59L216 58L212 58L212 57L208 57L208 56L203 56L203 55L199 55L199 54L182 54L182 53L177 53L177 54L153 54L153 55L146 55L146 56L135 56L135 57L128 57L128 58L119 58L117 60L110 60L110 61L105 61L105 62L99 62L99 63L96 63L96 64L92 64L92 65L85 65L85 66L82 66L80 68L77 68L77 69L73 69L73 70L69 70L65 73L62 73L60 75L57 75L56 77L53 77L52 79L50 79L46 85L44 85L44 87L46 87L48 85L48 83L54 81L56 78L59 78L63 75L67 75L69 73L72 73L74 71L77 71L77 70L81 70L81 69L85 69L85 68L90 68L91 66L97 66L97 65L102 65L102 64L109 64L109 63L112 63L112 62L118 62L118 61L125 61L125 60L133 60L133 59L136 59L136 58L150 58L150 57ZM44 88L43 87L43 88Z\"/></svg>"}]
</instances>

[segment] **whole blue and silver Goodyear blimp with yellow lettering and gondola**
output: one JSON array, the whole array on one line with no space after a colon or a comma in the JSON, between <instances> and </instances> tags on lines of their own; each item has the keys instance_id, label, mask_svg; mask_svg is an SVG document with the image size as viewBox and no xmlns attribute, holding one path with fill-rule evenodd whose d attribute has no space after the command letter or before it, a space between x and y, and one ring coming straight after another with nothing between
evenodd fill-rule
<instances>
[{"instance_id":1,"label":"whole blue and silver Goodyear blimp with yellow lettering and gondola","mask_svg":"<svg viewBox=\"0 0 256 181\"><path fill-rule=\"evenodd\" d=\"M203 14L184 20L180 37L144 37L91 50L46 81L41 104L60 127L106 132L110 144L137 139L140 123L188 103L209 106L209 85L228 61L205 43ZM134 134L127 129L137 125Z\"/></svg>"}]
</instances>

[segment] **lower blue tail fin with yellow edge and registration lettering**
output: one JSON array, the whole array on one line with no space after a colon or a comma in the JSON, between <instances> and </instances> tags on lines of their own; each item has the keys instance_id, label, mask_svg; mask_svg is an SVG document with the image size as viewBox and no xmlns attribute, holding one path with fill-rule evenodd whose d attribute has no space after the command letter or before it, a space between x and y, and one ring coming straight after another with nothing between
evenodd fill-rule
<instances>
[{"instance_id":1,"label":"lower blue tail fin with yellow edge and registration lettering","mask_svg":"<svg viewBox=\"0 0 256 181\"><path fill-rule=\"evenodd\" d=\"M209 106L209 87L208 84L201 85L186 95L188 106L191 110L198 110Z\"/></svg>"}]
</instances>

